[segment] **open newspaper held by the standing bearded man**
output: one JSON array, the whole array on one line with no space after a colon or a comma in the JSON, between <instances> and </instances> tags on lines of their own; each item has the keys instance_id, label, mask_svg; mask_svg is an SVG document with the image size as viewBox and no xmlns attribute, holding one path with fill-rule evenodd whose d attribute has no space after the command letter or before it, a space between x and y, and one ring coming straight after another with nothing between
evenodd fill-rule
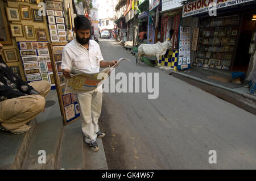
<instances>
[{"instance_id":1,"label":"open newspaper held by the standing bearded man","mask_svg":"<svg viewBox=\"0 0 256 181\"><path fill-rule=\"evenodd\" d=\"M90 74L77 69L71 69L71 78L67 79L64 94L90 92L97 89L98 86L102 85L104 79L110 76L111 71L114 70L114 68L116 68L123 60L129 59L120 58L117 61L117 64L98 73ZM101 75L107 75L108 77L101 77ZM101 79L98 79L98 77L101 77Z\"/></svg>"}]
</instances>

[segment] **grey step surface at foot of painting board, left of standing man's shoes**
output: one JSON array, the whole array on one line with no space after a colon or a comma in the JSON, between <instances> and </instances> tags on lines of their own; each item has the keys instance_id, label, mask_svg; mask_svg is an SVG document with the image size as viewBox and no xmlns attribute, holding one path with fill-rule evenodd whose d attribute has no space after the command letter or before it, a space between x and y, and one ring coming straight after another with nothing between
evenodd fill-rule
<instances>
[{"instance_id":1,"label":"grey step surface at foot of painting board, left of standing man's shoes","mask_svg":"<svg viewBox=\"0 0 256 181\"><path fill-rule=\"evenodd\" d=\"M81 121L76 120L63 128L57 169L82 169L83 160Z\"/></svg>"}]
</instances>

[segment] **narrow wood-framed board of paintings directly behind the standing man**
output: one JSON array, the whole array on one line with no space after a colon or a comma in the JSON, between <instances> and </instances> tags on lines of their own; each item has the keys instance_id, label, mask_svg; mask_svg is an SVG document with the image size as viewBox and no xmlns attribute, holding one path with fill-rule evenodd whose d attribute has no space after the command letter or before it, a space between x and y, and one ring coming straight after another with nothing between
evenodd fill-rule
<instances>
[{"instance_id":1,"label":"narrow wood-framed board of paintings directly behind the standing man","mask_svg":"<svg viewBox=\"0 0 256 181\"><path fill-rule=\"evenodd\" d=\"M56 90L60 104L63 123L65 125L72 123L80 118L80 107L77 102L76 94L64 94L65 82L67 81L61 70L61 60L63 47L67 43L51 43L49 44L49 52L51 56L52 78L56 83Z\"/></svg>"}]
</instances>

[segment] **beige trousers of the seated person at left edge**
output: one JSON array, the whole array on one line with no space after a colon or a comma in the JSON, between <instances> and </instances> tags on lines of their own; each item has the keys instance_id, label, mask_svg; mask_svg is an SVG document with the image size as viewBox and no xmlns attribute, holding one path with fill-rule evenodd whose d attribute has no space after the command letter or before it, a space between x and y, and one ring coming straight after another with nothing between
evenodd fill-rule
<instances>
[{"instance_id":1,"label":"beige trousers of the seated person at left edge","mask_svg":"<svg viewBox=\"0 0 256 181\"><path fill-rule=\"evenodd\" d=\"M28 83L40 95L25 95L0 102L0 123L2 127L13 130L22 127L44 110L46 96L51 90L51 83L36 81Z\"/></svg>"}]
</instances>

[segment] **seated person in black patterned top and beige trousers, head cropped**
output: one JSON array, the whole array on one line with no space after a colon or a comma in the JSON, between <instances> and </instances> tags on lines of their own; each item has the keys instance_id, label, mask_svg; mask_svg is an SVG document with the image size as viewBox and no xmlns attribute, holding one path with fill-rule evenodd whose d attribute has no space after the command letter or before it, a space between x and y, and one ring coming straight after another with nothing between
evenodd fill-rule
<instances>
[{"instance_id":1,"label":"seated person in black patterned top and beige trousers, head cropped","mask_svg":"<svg viewBox=\"0 0 256 181\"><path fill-rule=\"evenodd\" d=\"M25 133L26 125L44 110L44 96L51 90L47 81L26 83L2 60L0 44L0 129L14 134Z\"/></svg>"}]
</instances>

